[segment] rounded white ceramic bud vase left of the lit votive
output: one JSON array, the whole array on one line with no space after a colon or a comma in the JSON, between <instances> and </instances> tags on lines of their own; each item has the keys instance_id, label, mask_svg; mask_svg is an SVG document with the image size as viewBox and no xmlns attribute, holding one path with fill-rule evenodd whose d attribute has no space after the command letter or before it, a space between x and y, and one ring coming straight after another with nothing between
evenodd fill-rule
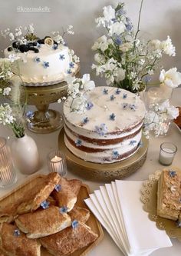
<instances>
[{"instance_id":1,"label":"rounded white ceramic bud vase left of the lit votive","mask_svg":"<svg viewBox=\"0 0 181 256\"><path fill-rule=\"evenodd\" d=\"M21 173L31 175L35 171L38 171L38 148L34 139L30 136L25 135L22 138L16 138L12 142L12 156L15 167Z\"/></svg>"}]
</instances>

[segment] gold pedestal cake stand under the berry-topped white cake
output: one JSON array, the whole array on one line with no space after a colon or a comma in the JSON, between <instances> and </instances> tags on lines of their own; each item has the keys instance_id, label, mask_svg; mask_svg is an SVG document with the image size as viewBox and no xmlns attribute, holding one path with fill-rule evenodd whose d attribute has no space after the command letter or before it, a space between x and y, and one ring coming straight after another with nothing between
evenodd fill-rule
<instances>
[{"instance_id":1,"label":"gold pedestal cake stand under the berry-topped white cake","mask_svg":"<svg viewBox=\"0 0 181 256\"><path fill-rule=\"evenodd\" d=\"M80 75L78 67L75 74ZM67 83L65 81L54 85L25 86L28 105L35 105L36 111L27 126L30 131L46 134L63 127L63 118L59 111L49 109L49 105L67 95Z\"/></svg>"}]
</instances>

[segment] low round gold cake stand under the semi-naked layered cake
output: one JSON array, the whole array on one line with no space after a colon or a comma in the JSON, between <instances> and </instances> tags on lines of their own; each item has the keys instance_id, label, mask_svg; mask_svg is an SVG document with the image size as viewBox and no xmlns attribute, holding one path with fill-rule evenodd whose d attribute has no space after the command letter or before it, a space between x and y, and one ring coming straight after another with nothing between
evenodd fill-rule
<instances>
[{"instance_id":1,"label":"low round gold cake stand under the semi-naked layered cake","mask_svg":"<svg viewBox=\"0 0 181 256\"><path fill-rule=\"evenodd\" d=\"M91 181L110 182L132 175L143 165L146 160L149 141L144 136L142 141L143 146L134 155L113 164L94 164L77 158L64 144L64 129L59 134L58 145L59 149L66 155L68 171Z\"/></svg>"}]
</instances>

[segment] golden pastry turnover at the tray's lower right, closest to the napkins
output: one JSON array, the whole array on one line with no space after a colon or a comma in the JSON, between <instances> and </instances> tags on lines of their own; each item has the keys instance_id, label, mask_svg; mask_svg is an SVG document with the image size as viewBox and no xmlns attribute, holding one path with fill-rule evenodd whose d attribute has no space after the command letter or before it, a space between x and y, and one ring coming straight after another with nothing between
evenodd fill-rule
<instances>
[{"instance_id":1,"label":"golden pastry turnover at the tray's lower right, closest to the napkins","mask_svg":"<svg viewBox=\"0 0 181 256\"><path fill-rule=\"evenodd\" d=\"M40 238L40 242L54 256L65 256L84 248L97 239L97 234L86 224L79 222L77 228L66 228L56 234Z\"/></svg>"}]
</instances>

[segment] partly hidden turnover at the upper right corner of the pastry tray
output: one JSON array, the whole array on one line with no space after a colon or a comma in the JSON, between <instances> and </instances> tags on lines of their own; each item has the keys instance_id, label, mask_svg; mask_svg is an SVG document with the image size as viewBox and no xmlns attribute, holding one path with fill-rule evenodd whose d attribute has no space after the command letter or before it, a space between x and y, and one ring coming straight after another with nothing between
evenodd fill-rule
<instances>
[{"instance_id":1,"label":"partly hidden turnover at the upper right corner of the pastry tray","mask_svg":"<svg viewBox=\"0 0 181 256\"><path fill-rule=\"evenodd\" d=\"M81 181L70 180L61 178L59 183L60 191L53 191L52 196L58 202L59 207L67 207L67 211L71 211L74 208L74 204L77 201L77 194L81 188Z\"/></svg>"}]
</instances>

